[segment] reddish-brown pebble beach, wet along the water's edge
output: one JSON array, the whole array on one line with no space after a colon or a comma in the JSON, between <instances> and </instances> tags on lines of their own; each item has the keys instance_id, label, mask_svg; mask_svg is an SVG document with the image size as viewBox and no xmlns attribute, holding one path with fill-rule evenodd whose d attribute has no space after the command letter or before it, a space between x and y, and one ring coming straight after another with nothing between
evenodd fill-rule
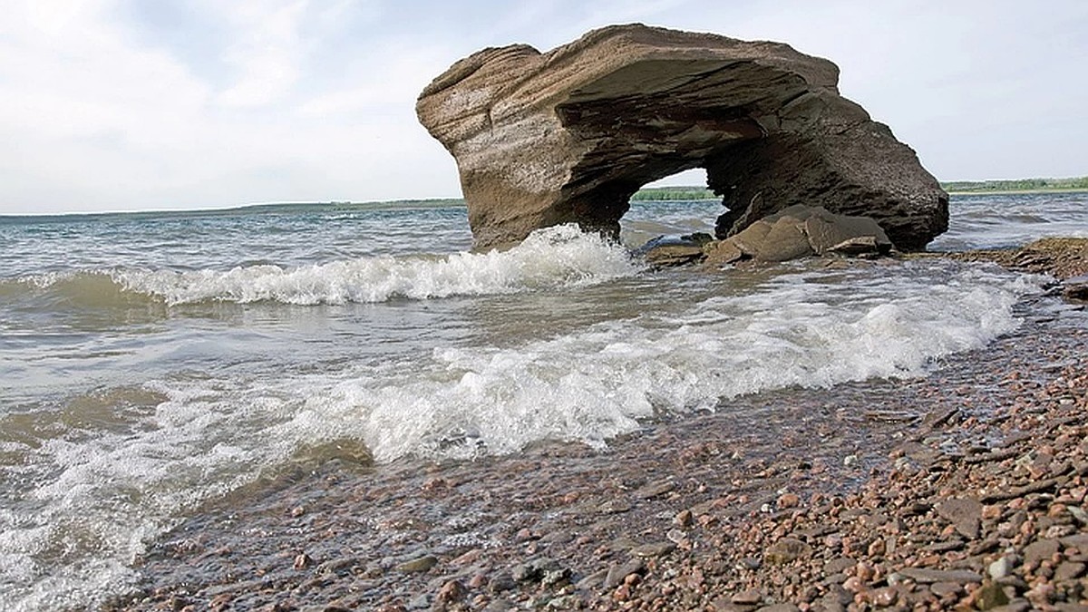
<instances>
[{"instance_id":1,"label":"reddish-brown pebble beach, wet along the water's edge","mask_svg":"<svg viewBox=\"0 0 1088 612\"><path fill-rule=\"evenodd\" d=\"M1061 261L1033 271L1083 273ZM925 379L741 397L605 453L300 464L107 609L1086 610L1088 323L1023 315Z\"/></svg>"}]
</instances>

